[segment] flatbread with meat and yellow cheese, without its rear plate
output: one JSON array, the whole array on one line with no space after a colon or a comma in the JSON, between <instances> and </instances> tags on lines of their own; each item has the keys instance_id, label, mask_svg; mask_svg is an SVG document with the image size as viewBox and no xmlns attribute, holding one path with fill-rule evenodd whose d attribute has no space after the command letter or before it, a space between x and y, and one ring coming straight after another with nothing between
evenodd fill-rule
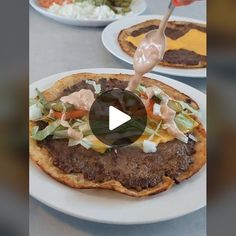
<instances>
[{"instance_id":1,"label":"flatbread with meat and yellow cheese, without its rear plate","mask_svg":"<svg viewBox=\"0 0 236 236\"><path fill-rule=\"evenodd\" d=\"M158 29L160 20L148 20L122 30L118 42L122 50L134 56L136 48L151 30ZM170 21L165 31L167 48L162 66L178 68L206 67L206 26L182 21Z\"/></svg>"}]
</instances>

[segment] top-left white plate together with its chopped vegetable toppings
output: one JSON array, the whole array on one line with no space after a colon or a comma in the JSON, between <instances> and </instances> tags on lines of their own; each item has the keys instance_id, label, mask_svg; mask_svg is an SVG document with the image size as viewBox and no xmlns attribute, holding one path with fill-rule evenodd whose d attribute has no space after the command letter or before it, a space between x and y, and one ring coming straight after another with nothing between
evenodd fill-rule
<instances>
[{"instance_id":1,"label":"top-left white plate together with its chopped vegetable toppings","mask_svg":"<svg viewBox=\"0 0 236 236\"><path fill-rule=\"evenodd\" d=\"M122 5L123 4L123 5ZM120 18L137 16L146 9L145 0L30 0L42 15L63 24L87 27L106 26Z\"/></svg>"}]
</instances>

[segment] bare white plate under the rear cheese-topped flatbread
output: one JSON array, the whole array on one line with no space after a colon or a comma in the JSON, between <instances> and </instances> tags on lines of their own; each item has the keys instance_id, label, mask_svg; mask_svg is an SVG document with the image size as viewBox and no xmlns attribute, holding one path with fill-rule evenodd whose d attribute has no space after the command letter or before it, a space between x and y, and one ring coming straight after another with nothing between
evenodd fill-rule
<instances>
[{"instance_id":1,"label":"bare white plate under the rear cheese-topped flatbread","mask_svg":"<svg viewBox=\"0 0 236 236\"><path fill-rule=\"evenodd\" d=\"M114 56L119 59L128 62L129 64L133 64L133 58L126 54L120 47L118 43L118 35L121 30L125 28L129 28L133 25L139 24L141 22L150 20L150 19L162 19L161 15L146 15L146 16L136 16L129 18L129 20L121 19L119 21L113 22L108 25L103 33L102 33L102 42L105 48L112 53ZM186 17L178 17L172 16L170 20L179 20L179 21L187 21L193 23L202 23L206 24L204 21L186 18ZM155 72L168 74L168 75L176 75L183 77L206 77L206 68L198 68L198 69L182 69L182 68L171 68L164 66L156 66L154 68Z\"/></svg>"}]
</instances>

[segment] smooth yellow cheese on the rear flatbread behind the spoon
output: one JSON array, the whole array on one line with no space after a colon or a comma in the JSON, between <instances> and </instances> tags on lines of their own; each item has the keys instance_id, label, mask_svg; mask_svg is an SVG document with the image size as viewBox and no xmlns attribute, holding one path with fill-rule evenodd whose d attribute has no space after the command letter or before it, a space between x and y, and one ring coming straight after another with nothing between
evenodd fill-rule
<instances>
[{"instance_id":1,"label":"smooth yellow cheese on the rear flatbread behind the spoon","mask_svg":"<svg viewBox=\"0 0 236 236\"><path fill-rule=\"evenodd\" d=\"M141 34L137 37L128 36L126 41L132 43L134 46L138 47L141 41L144 39L146 34ZM196 29L189 30L182 37L173 40L169 37L167 39L167 50L178 50L178 49L186 49L189 51L194 51L199 55L206 56L207 54L207 46L206 46L206 33L201 32Z\"/></svg>"}]
</instances>

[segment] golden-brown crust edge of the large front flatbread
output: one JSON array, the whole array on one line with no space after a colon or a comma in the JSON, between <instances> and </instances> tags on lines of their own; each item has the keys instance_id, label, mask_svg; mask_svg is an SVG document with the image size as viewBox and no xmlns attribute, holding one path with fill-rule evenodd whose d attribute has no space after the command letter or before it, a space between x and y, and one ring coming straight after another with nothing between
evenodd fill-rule
<instances>
[{"instance_id":1,"label":"golden-brown crust edge of the large front flatbread","mask_svg":"<svg viewBox=\"0 0 236 236\"><path fill-rule=\"evenodd\" d=\"M73 85L81 82L82 80L92 79L95 81L99 81L99 79L101 78L107 78L107 79L115 78L122 81L128 81L130 80L130 77L131 77L130 75L126 74L115 74L115 75L90 74L90 73L74 74L57 81L51 88L44 91L43 95L48 101L54 101L62 96L64 89L70 88ZM145 84L146 86L158 86L170 97L175 98L177 100L188 101L188 103L191 104L192 107L196 109L198 108L197 103L194 102L190 97L160 81L143 77L142 83ZM35 122L30 122L30 133L34 125ZM47 174L49 174L59 182L66 184L70 187L78 189L110 189L129 196L144 197L163 192L171 188L175 183L190 178L192 175L194 175L201 169L201 167L206 162L206 133L202 124L200 124L197 128L195 128L194 136L199 141L194 145L194 149L196 151L193 156L194 162L190 164L187 171L183 172L175 180L170 177L164 176L162 182L159 183L158 185L151 188L143 189L141 191L136 191L134 189L126 188L119 181L116 180L109 180L100 183L86 179L83 174L66 174L53 164L52 156L50 155L48 150L45 149L44 147L41 147L37 143L37 141L33 140L31 137L30 137L30 157Z\"/></svg>"}]
</instances>

